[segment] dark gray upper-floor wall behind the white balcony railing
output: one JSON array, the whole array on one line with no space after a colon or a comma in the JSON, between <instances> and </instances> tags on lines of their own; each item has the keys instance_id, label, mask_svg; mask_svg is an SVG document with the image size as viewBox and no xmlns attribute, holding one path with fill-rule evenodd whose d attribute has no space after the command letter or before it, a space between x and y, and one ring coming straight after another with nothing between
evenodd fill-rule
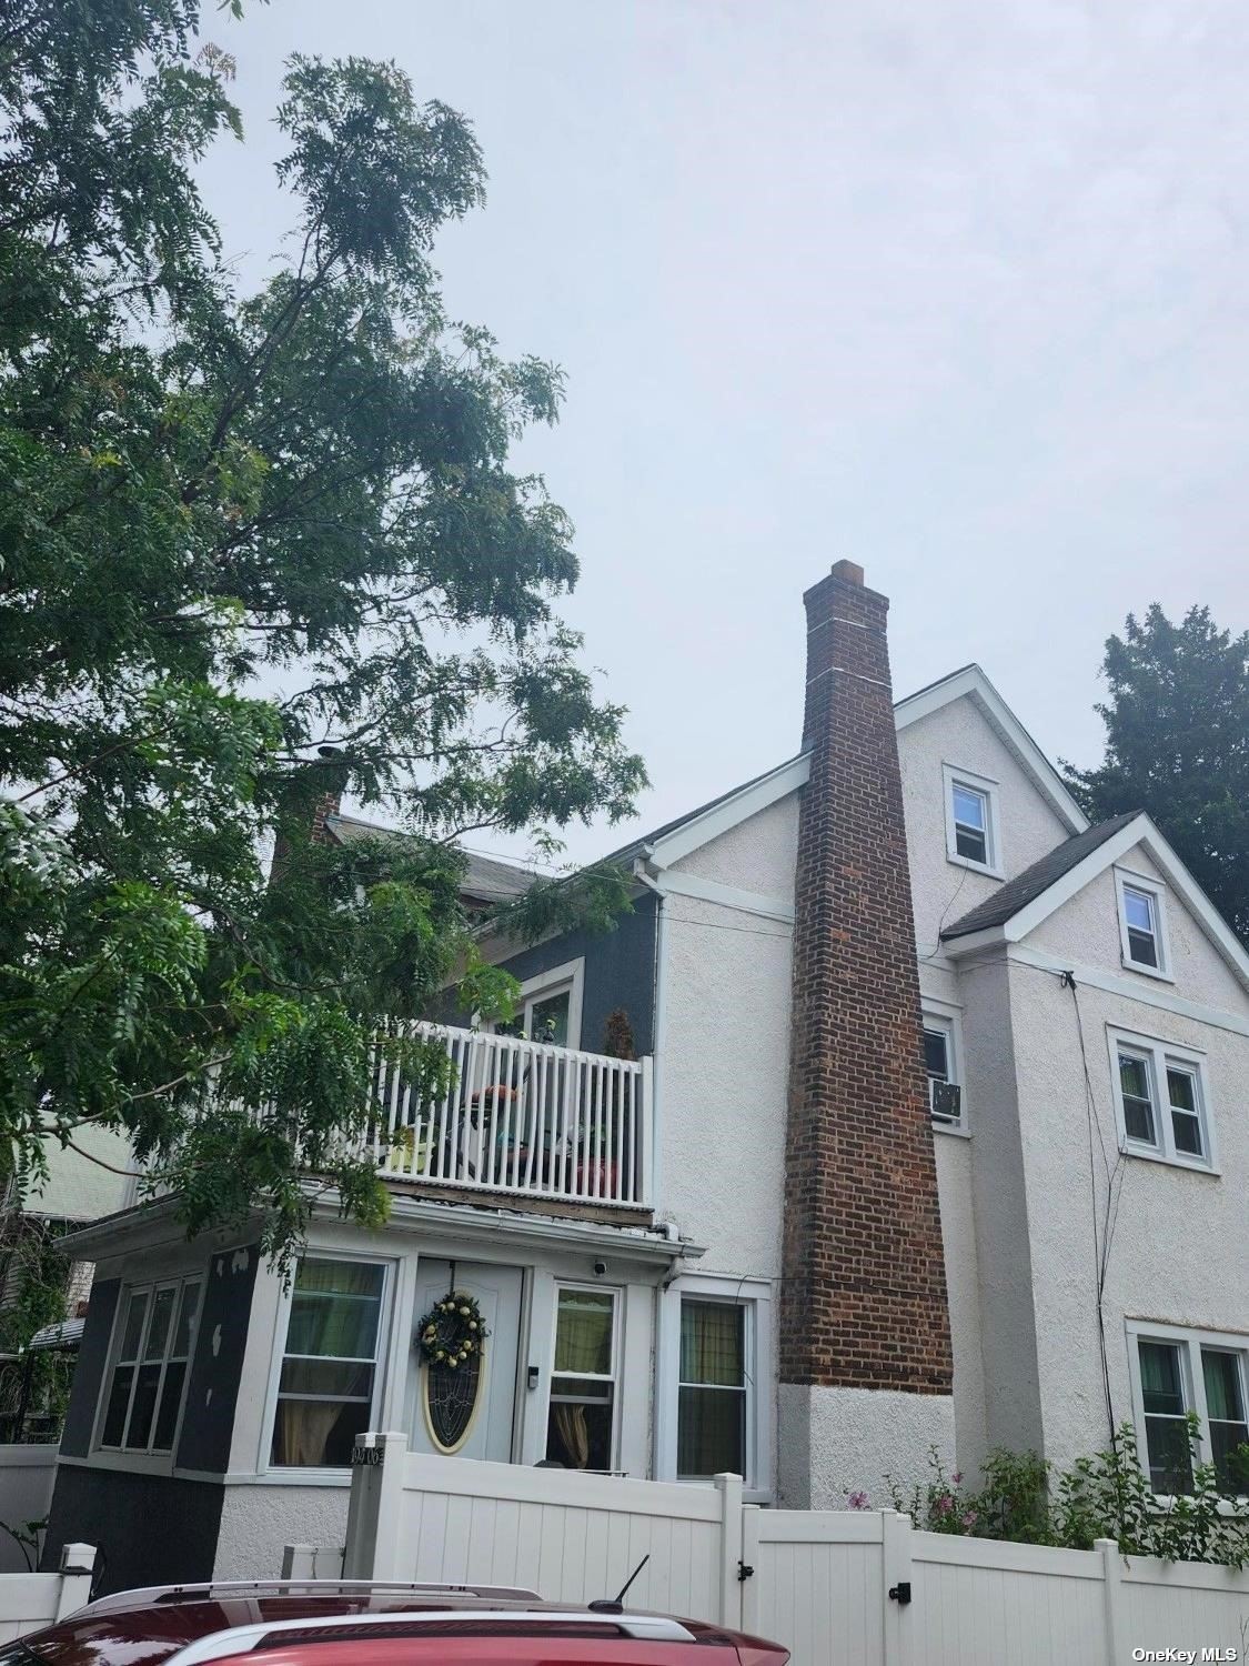
<instances>
[{"instance_id":1,"label":"dark gray upper-floor wall behind the white balcony railing","mask_svg":"<svg viewBox=\"0 0 1249 1666\"><path fill-rule=\"evenodd\" d=\"M586 1053L603 1051L603 1028L608 1013L623 1006L633 1025L633 1045L638 1058L654 1046L654 921L656 901L649 891L633 905L631 915L623 915L615 931L568 931L565 936L538 943L501 961L503 966L525 981L563 966L568 960L585 956L586 976L581 996L581 1048Z\"/></svg>"}]
</instances>

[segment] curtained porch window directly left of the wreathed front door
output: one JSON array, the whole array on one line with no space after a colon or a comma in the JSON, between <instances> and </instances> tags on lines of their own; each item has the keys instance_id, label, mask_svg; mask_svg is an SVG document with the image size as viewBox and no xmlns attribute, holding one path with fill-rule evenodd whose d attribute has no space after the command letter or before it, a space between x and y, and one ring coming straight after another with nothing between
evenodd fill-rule
<instances>
[{"instance_id":1,"label":"curtained porch window directly left of the wreathed front door","mask_svg":"<svg viewBox=\"0 0 1249 1666\"><path fill-rule=\"evenodd\" d=\"M345 1469L370 1426L386 1269L305 1256L295 1274L270 1463Z\"/></svg>"}]
</instances>

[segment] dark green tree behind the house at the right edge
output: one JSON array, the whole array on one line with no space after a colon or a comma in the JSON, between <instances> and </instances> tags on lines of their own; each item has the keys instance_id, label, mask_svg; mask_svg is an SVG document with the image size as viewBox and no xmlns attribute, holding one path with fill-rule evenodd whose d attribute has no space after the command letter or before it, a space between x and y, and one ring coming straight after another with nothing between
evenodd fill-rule
<instances>
[{"instance_id":1,"label":"dark green tree behind the house at the right edge","mask_svg":"<svg viewBox=\"0 0 1249 1666\"><path fill-rule=\"evenodd\" d=\"M1106 643L1106 756L1066 765L1092 820L1146 810L1249 943L1249 631L1209 608L1172 625L1154 603Z\"/></svg>"}]
</instances>

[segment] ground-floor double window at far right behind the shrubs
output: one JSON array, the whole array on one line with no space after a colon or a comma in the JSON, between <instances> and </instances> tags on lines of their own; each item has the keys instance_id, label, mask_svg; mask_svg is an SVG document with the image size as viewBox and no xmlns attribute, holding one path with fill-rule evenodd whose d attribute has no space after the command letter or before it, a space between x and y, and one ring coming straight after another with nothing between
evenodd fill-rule
<instances>
[{"instance_id":1,"label":"ground-floor double window at far right behind the shrubs","mask_svg":"<svg viewBox=\"0 0 1249 1666\"><path fill-rule=\"evenodd\" d=\"M1129 1344L1141 1461L1154 1493L1191 1493L1194 1461L1214 1464L1222 1493L1249 1491L1249 1464L1241 1451L1249 1443L1249 1339L1129 1324ZM1199 1423L1196 1441L1189 1441L1191 1413Z\"/></svg>"}]
</instances>

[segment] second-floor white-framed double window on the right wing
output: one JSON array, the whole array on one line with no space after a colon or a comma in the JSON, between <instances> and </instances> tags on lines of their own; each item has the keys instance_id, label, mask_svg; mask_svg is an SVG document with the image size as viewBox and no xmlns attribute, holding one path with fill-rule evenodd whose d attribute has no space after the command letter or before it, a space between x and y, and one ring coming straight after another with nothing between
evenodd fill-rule
<instances>
[{"instance_id":1,"label":"second-floor white-framed double window on the right wing","mask_svg":"<svg viewBox=\"0 0 1249 1666\"><path fill-rule=\"evenodd\" d=\"M1126 1151L1211 1168L1201 1060L1164 1041L1111 1033L1119 1140Z\"/></svg>"}]
</instances>

